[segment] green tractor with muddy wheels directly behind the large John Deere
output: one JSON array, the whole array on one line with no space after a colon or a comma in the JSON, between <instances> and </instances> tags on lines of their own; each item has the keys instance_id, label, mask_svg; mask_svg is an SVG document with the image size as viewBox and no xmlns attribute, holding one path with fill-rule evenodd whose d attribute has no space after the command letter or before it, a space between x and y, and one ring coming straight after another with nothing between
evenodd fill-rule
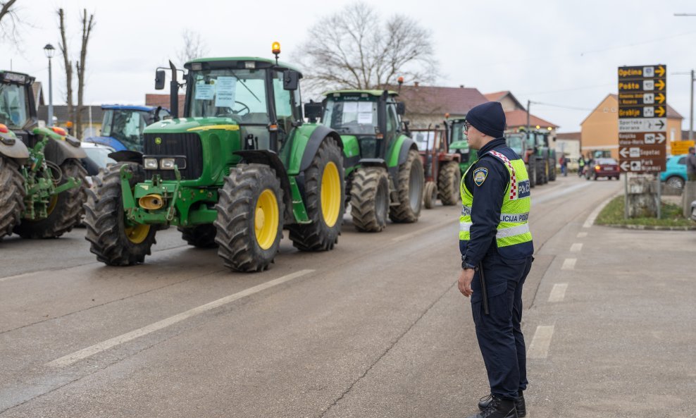
<instances>
[{"instance_id":1,"label":"green tractor with muddy wheels directly behind the large John Deere","mask_svg":"<svg viewBox=\"0 0 696 418\"><path fill-rule=\"evenodd\" d=\"M378 232L392 222L421 216L423 163L401 115L405 106L387 90L337 90L323 103L305 105L313 121L341 135L346 161L346 195L353 224Z\"/></svg>"}]
</instances>

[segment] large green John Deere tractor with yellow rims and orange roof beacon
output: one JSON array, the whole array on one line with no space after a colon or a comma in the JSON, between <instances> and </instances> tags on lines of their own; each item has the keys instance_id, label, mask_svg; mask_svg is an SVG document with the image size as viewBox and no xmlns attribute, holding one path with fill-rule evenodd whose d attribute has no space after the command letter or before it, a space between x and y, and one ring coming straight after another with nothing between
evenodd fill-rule
<instances>
[{"instance_id":1,"label":"large green John Deere tractor with yellow rims and orange roof beacon","mask_svg":"<svg viewBox=\"0 0 696 418\"><path fill-rule=\"evenodd\" d=\"M144 261L159 228L173 225L196 247L218 247L225 266L263 271L283 228L295 247L331 250L344 211L342 142L303 123L298 70L276 59L196 59L185 64L184 117L170 63L174 119L144 130L144 152L120 161L89 191L87 240L97 259ZM164 87L159 69L156 88Z\"/></svg>"}]
</instances>

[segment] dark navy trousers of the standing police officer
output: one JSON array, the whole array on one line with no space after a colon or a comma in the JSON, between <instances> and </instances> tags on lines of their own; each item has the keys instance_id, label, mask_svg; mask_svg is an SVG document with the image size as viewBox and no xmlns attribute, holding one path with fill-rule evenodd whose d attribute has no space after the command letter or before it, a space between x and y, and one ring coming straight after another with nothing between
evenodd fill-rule
<instances>
[{"instance_id":1,"label":"dark navy trousers of the standing police officer","mask_svg":"<svg viewBox=\"0 0 696 418\"><path fill-rule=\"evenodd\" d=\"M505 259L486 254L481 263L490 314L483 311L478 271L473 277L471 312L478 346L483 355L490 391L501 398L516 399L527 388L526 349L522 321L522 285L533 257Z\"/></svg>"}]
</instances>

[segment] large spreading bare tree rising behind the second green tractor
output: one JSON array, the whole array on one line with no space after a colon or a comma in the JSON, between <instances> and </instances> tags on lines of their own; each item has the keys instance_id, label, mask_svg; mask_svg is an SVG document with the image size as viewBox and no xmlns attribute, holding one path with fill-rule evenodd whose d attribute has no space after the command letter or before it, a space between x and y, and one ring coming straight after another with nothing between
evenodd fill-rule
<instances>
[{"instance_id":1,"label":"large spreading bare tree rising behind the second green tractor","mask_svg":"<svg viewBox=\"0 0 696 418\"><path fill-rule=\"evenodd\" d=\"M404 82L437 78L430 30L403 15L382 20L361 2L313 25L297 59L315 89L383 89L399 76Z\"/></svg>"}]
</instances>

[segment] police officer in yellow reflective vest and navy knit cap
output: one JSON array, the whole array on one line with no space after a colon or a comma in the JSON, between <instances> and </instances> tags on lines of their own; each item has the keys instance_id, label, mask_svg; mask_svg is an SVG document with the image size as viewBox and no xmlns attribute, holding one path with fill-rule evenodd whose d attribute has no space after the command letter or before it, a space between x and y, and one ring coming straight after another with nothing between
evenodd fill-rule
<instances>
[{"instance_id":1,"label":"police officer in yellow reflective vest and navy knit cap","mask_svg":"<svg viewBox=\"0 0 696 418\"><path fill-rule=\"evenodd\" d=\"M468 145L478 160L461 181L459 291L471 296L478 346L490 395L469 418L526 415L526 351L521 329L522 285L534 247L527 222L530 187L524 161L503 137L505 113L498 102L466 115Z\"/></svg>"}]
</instances>

